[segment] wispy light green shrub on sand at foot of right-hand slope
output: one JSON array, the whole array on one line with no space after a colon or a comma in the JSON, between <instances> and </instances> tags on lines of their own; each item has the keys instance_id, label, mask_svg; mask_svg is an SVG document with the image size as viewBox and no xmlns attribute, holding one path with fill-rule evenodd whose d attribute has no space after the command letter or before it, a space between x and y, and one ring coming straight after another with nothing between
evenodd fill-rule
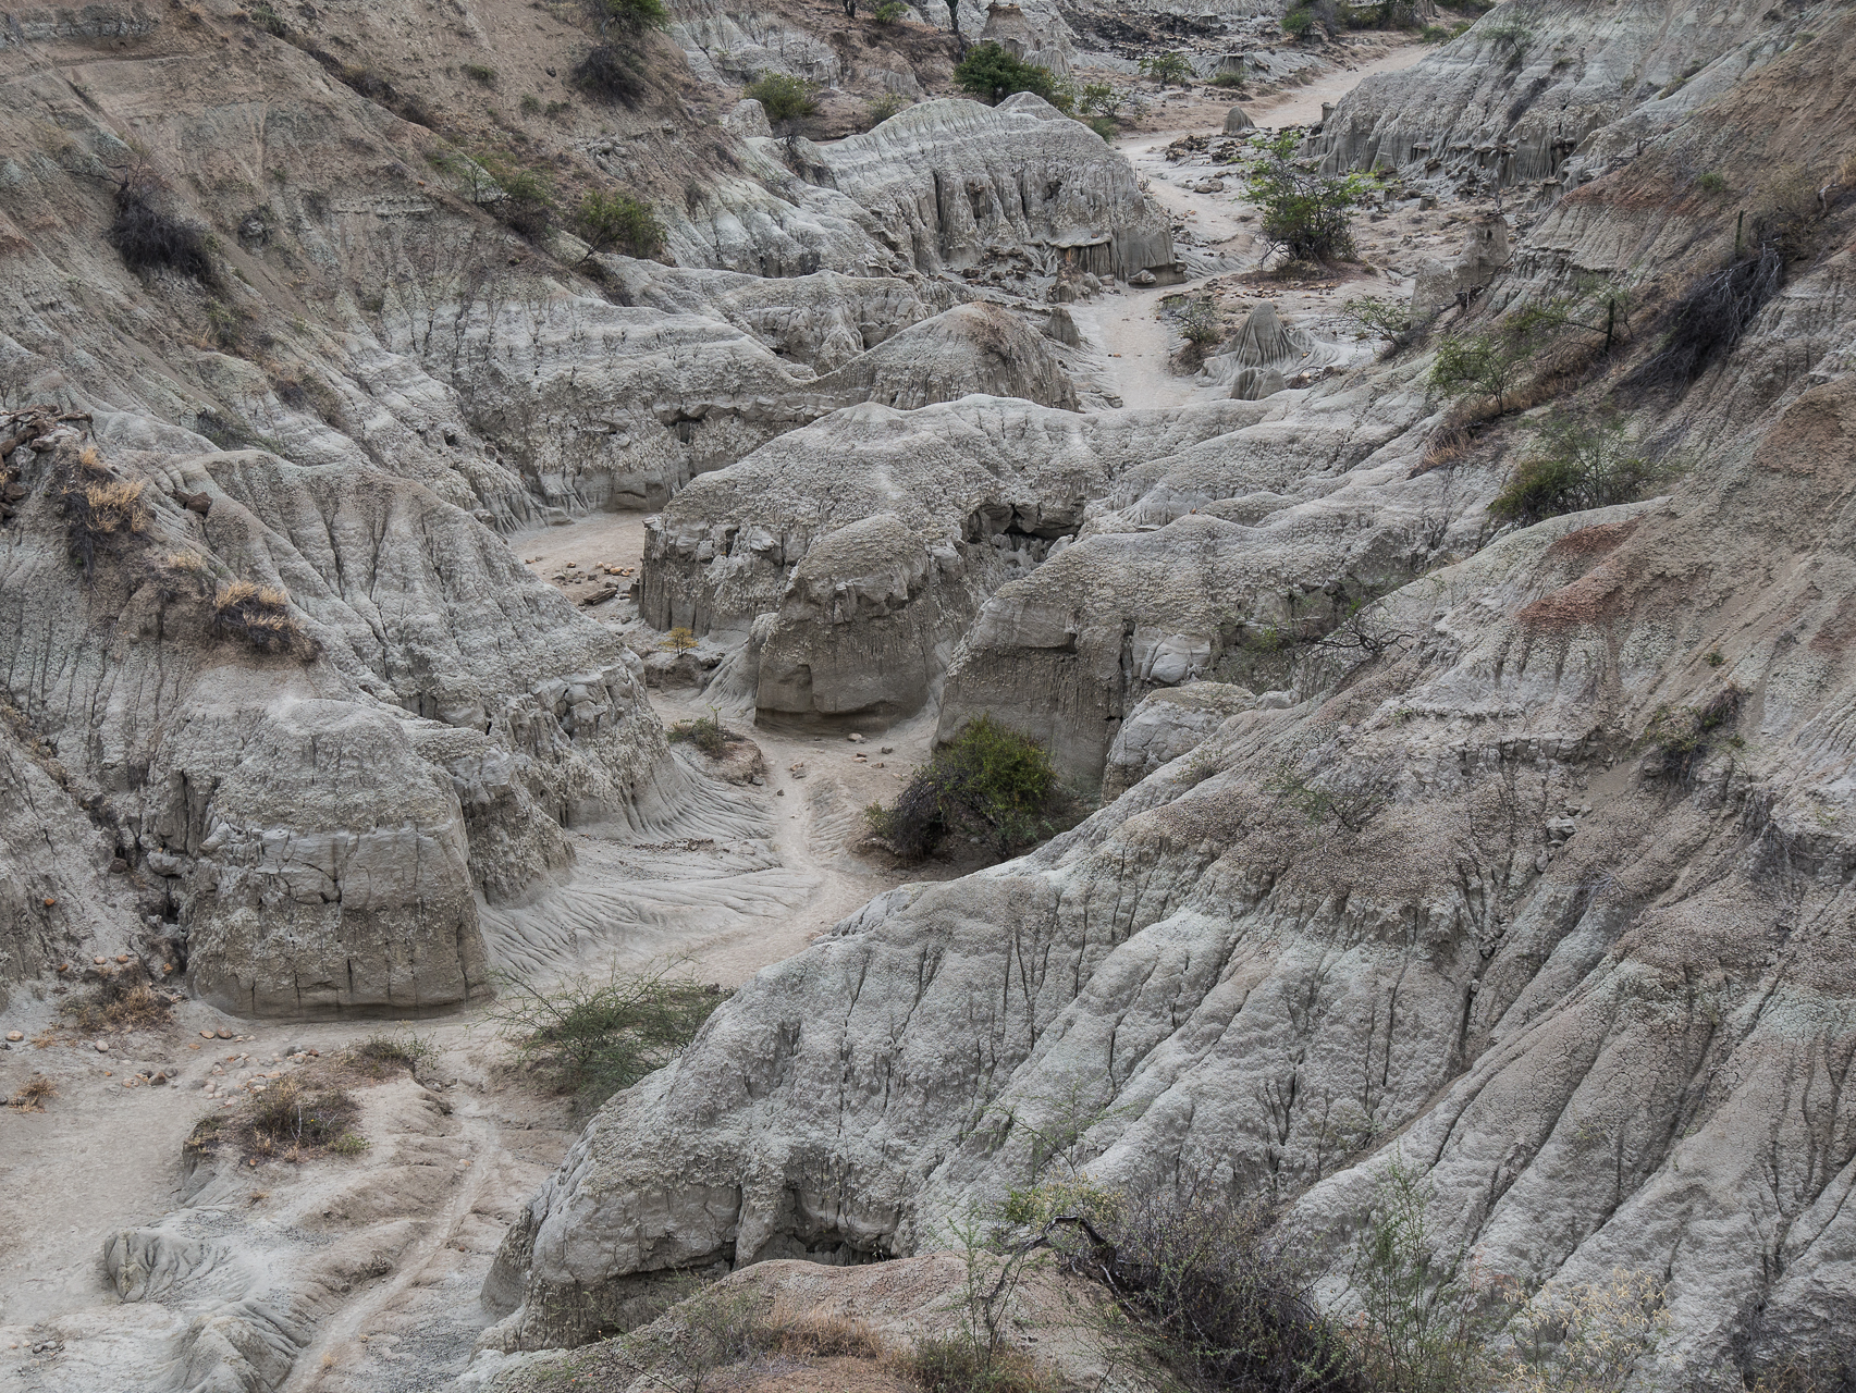
<instances>
[{"instance_id":1,"label":"wispy light green shrub on sand at foot of right-hand slope","mask_svg":"<svg viewBox=\"0 0 1856 1393\"><path fill-rule=\"evenodd\" d=\"M590 1111L674 1059L726 998L668 970L612 972L546 992L505 983L490 1015L527 1068Z\"/></svg>"}]
</instances>

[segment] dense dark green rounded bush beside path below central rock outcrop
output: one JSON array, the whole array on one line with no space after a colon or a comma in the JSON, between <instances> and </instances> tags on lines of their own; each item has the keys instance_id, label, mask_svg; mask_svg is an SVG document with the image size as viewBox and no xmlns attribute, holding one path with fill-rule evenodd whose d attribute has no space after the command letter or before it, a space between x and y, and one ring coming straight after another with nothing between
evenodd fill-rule
<instances>
[{"instance_id":1,"label":"dense dark green rounded bush beside path below central rock outcrop","mask_svg":"<svg viewBox=\"0 0 1856 1393\"><path fill-rule=\"evenodd\" d=\"M895 807L865 811L870 831L917 861L948 833L976 837L999 855L1060 831L1075 799L1036 740L980 716L915 770Z\"/></svg>"}]
</instances>

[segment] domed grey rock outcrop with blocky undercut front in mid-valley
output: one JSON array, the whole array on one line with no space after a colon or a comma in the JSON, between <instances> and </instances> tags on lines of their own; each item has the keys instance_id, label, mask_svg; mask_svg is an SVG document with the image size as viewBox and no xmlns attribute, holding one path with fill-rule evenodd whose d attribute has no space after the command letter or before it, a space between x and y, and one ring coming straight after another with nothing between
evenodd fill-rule
<instances>
[{"instance_id":1,"label":"domed grey rock outcrop with blocky undercut front in mid-valley","mask_svg":"<svg viewBox=\"0 0 1856 1393\"><path fill-rule=\"evenodd\" d=\"M768 645L772 666L750 684L768 714L915 710L980 603L1058 555L1112 479L1153 449L1195 445L1258 414L1238 403L1076 414L997 397L841 410L703 475L651 519L640 612L744 640L750 668ZM813 556L878 518L878 532ZM878 534L902 551L869 553ZM883 696L865 701L876 671Z\"/></svg>"}]
</instances>

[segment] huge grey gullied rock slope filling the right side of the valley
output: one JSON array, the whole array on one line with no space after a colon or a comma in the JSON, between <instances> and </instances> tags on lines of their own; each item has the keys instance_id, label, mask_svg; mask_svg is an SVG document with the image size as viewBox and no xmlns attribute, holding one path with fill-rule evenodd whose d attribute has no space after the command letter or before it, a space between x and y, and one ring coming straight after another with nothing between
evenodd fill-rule
<instances>
[{"instance_id":1,"label":"huge grey gullied rock slope filling the right side of the valley","mask_svg":"<svg viewBox=\"0 0 1856 1393\"><path fill-rule=\"evenodd\" d=\"M1401 1163L1483 1271L1654 1272L1657 1380L1843 1358L1852 61L1845 26L1752 72L1561 200L1483 297L1637 258L1648 325L1734 254L1683 171L1750 200L1787 154L1832 160L1737 341L1654 393L1626 378L1661 330L1594 369L1641 438L1687 441L1665 497L1481 545L1502 475L1427 467L1414 365L1225 403L1244 419L1115 471L986 601L943 722L1000 714L1132 786L1034 855L878 898L614 1100L505 1243L496 1339L624 1326L672 1269L932 1248L1082 1118L1104 1182L1299 1196L1336 1271ZM885 603L913 584L869 573ZM1398 588L1264 690L1257 640L1336 582ZM1195 671L1236 679L1192 714L1208 735L1154 696Z\"/></svg>"}]
</instances>

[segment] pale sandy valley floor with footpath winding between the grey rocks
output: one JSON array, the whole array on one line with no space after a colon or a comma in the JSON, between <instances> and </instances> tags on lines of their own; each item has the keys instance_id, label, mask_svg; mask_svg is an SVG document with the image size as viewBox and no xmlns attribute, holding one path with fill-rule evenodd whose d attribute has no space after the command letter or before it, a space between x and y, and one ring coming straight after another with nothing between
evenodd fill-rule
<instances>
[{"instance_id":1,"label":"pale sandy valley floor with footpath winding between the grey rocks","mask_svg":"<svg viewBox=\"0 0 1856 1393\"><path fill-rule=\"evenodd\" d=\"M1420 56L1418 46L1394 50L1251 109L1264 124L1320 119L1320 104L1366 72ZM1180 115L1192 121L1121 143L1162 206L1229 265L1192 286L1106 293L1073 306L1102 371L1099 386L1127 406L1169 406L1221 391L1169 371L1173 341L1158 317L1167 295L1218 293L1232 313L1268 295L1284 317L1338 332L1336 299L1396 293L1399 284L1244 280L1257 260L1244 217L1255 210L1231 191L1234 180L1225 193L1188 187L1216 169L1166 158L1180 134L1219 130L1225 106L1205 104L1199 122L1199 108L1182 102ZM1362 224L1362 250L1383 258L1381 265L1414 265L1420 254L1453 252L1463 232L1450 223L1461 219L1435 210L1385 215ZM592 514L510 538L535 575L575 601L611 590L586 608L618 629L635 620L627 590L642 545L642 514ZM666 723L707 714L692 688L653 690L651 699ZM705 981L733 987L791 957L870 896L917 877L859 855L854 844L861 809L891 798L926 759L930 716L863 742L755 729L737 718L726 723L759 748L763 783L722 783L703 755L677 746L694 790L687 812L644 833L575 835L572 874L522 905L484 909L486 937L509 970L548 983L574 972L676 961ZM304 1233L329 1222L327 1215L345 1213L342 1206L356 1208L356 1193L390 1211L393 1222L364 1233L392 1256L380 1259L379 1276L330 1298L332 1310L312 1326L286 1389L408 1393L449 1386L490 1321L477 1293L510 1217L579 1130L561 1100L536 1094L505 1068L507 1048L484 1011L431 1022L254 1024L189 1002L171 1028L102 1037L106 1050L98 1052L98 1037L58 1028L58 998L28 989L0 1011L0 1028L28 1037L0 1052L0 1094L11 1096L35 1072L58 1085L45 1111L0 1109L0 1387L126 1393L167 1376L147 1363L147 1350L173 1347L199 1311L152 1300L119 1304L102 1263L111 1233L204 1224L213 1243L282 1282L306 1254L321 1250L316 1245L323 1239ZM202 1029L226 1029L234 1039L202 1041ZM366 1156L301 1167L271 1161L184 1202L180 1143L200 1115L254 1087L258 1074L299 1068L288 1063L293 1050L332 1054L379 1029L416 1033L432 1059L418 1083L367 1091L375 1144ZM35 1037L45 1048L33 1048ZM217 1076L215 1065L223 1070ZM145 1074L154 1072L169 1081L148 1083ZM434 1165L438 1172L421 1170ZM419 1182L431 1174L442 1183ZM128 1367L121 1367L124 1358Z\"/></svg>"}]
</instances>

